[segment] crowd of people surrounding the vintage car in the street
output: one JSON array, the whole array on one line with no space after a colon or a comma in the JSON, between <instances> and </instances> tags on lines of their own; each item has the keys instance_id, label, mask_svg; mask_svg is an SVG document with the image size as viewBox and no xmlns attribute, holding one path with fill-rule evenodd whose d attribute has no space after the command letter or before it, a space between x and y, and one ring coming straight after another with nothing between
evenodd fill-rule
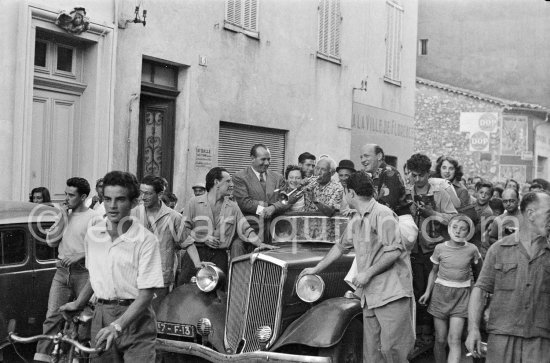
<instances>
[{"instance_id":1,"label":"crowd of people surrounding the vintage car in the street","mask_svg":"<svg viewBox=\"0 0 550 363\"><path fill-rule=\"evenodd\" d=\"M152 361L152 306L174 286L205 264L227 270L232 258L275 248L268 225L277 215L340 213L352 233L302 275L355 251L351 285L363 307L364 361L405 362L433 346L437 362L459 362L466 320L466 347L479 356L487 307L488 362L548 361L548 182L520 188L511 179L465 179L454 158L441 156L432 168L421 153L401 174L375 144L361 148L360 160L356 170L351 160L305 152L281 175L269 169L269 149L256 144L246 169L231 175L214 167L194 184L183 212L158 176L138 182L113 171L97 180L94 197L85 179L70 178L47 235L59 260L44 333L60 309L77 309L93 294L93 342L110 348L98 359ZM30 200L51 204L43 187ZM48 361L49 348L39 345L35 360Z\"/></svg>"}]
</instances>

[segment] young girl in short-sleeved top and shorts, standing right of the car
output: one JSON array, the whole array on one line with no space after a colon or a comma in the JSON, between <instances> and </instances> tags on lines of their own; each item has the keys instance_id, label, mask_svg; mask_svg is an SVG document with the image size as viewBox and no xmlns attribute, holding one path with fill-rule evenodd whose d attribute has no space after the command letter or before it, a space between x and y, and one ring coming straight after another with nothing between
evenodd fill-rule
<instances>
[{"instance_id":1,"label":"young girl in short-sleeved top and shorts, standing right of the car","mask_svg":"<svg viewBox=\"0 0 550 363\"><path fill-rule=\"evenodd\" d=\"M430 258L433 268L428 286L418 301L425 305L430 300L428 313L434 317L434 357L437 363L460 361L462 329L468 317L472 273L478 276L482 265L477 247L467 242L473 235L473 228L472 221L465 215L459 214L451 219L451 240L435 247ZM448 358L445 352L447 343Z\"/></svg>"}]
</instances>

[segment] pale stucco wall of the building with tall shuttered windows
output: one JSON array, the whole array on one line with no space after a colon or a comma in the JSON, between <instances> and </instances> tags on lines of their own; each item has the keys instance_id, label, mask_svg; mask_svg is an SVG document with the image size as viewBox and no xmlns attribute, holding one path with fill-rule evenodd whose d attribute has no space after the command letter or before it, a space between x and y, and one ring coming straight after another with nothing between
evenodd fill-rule
<instances>
[{"instance_id":1,"label":"pale stucco wall of the building with tall shuttered windows","mask_svg":"<svg viewBox=\"0 0 550 363\"><path fill-rule=\"evenodd\" d=\"M316 56L318 1L261 1L260 39L224 29L223 1L148 2L148 22L119 30L115 145L131 127L130 156L115 152L113 167L137 169L137 113L128 111L139 94L143 56L183 66L176 110L174 190L189 195L189 184L207 168L195 168L188 150L208 147L217 161L219 122L288 130L286 163L303 151L350 157L352 89L369 86L359 101L414 114L416 1L405 7L401 87L382 80L385 62L385 1L342 1L342 64ZM177 4L177 6L176 6ZM121 12L133 2L123 1ZM207 57L207 67L198 65ZM122 66L123 65L123 66Z\"/></svg>"}]
</instances>

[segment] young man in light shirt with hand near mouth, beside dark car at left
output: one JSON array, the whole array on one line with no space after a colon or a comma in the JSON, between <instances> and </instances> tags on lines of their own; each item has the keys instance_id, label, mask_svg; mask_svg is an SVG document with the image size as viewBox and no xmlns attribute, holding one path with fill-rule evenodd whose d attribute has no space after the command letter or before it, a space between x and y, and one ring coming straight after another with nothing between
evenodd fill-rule
<instances>
[{"instance_id":1,"label":"young man in light shirt with hand near mouth, beside dark car at left","mask_svg":"<svg viewBox=\"0 0 550 363\"><path fill-rule=\"evenodd\" d=\"M84 204L90 194L90 184L84 178L70 178L65 188L65 202L60 205L58 221L48 230L46 242L58 247L57 270L50 287L48 312L43 323L43 333L55 335L59 331L62 316L59 307L80 294L88 270L84 261L84 237L90 220L96 212ZM42 340L36 347L35 361L49 362L52 344Z\"/></svg>"}]
</instances>

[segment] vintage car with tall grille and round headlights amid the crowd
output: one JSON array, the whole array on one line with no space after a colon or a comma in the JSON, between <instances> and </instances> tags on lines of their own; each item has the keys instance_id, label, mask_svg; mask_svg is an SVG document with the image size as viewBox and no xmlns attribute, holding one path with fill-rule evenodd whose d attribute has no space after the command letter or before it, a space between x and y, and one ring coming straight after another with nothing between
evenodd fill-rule
<instances>
[{"instance_id":1,"label":"vintage car with tall grille and round headlights amid the crowd","mask_svg":"<svg viewBox=\"0 0 550 363\"><path fill-rule=\"evenodd\" d=\"M327 254L347 222L281 216L271 226L278 249L235 258L227 283L219 269L201 269L157 309L159 355L165 362L361 361L362 310L344 282L354 255L297 281Z\"/></svg>"}]
</instances>

